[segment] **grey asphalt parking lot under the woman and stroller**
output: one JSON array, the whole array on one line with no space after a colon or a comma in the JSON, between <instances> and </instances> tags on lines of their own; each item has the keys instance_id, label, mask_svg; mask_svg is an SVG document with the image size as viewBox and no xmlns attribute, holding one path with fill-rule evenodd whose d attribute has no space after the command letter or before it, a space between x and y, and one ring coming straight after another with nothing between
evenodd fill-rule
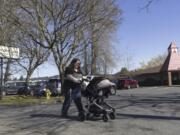
<instances>
[{"instance_id":1,"label":"grey asphalt parking lot under the woman and stroller","mask_svg":"<svg viewBox=\"0 0 180 135\"><path fill-rule=\"evenodd\" d=\"M144 87L118 90L108 98L116 119L96 118L79 122L70 108L68 119L60 117L62 104L0 106L1 135L178 135L180 87Z\"/></svg>"}]
</instances>

